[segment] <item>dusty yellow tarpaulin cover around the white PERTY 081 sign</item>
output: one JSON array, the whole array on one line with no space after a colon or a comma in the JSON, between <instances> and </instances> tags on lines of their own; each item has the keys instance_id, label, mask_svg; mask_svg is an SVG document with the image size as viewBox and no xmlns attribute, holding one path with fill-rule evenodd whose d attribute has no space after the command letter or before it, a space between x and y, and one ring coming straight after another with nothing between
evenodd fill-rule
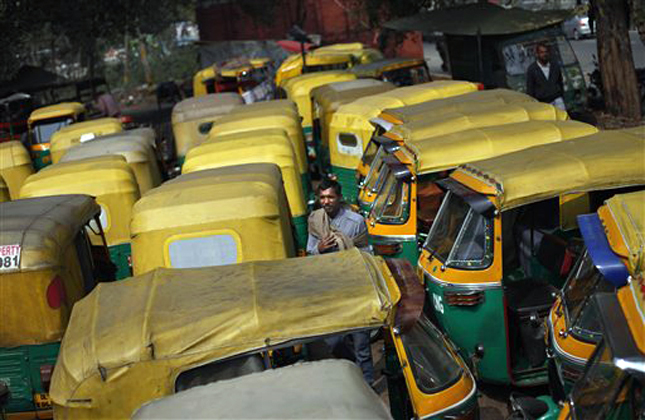
<instances>
[{"instance_id":1,"label":"dusty yellow tarpaulin cover around the white PERTY 081 sign","mask_svg":"<svg viewBox=\"0 0 645 420\"><path fill-rule=\"evenodd\" d=\"M85 195L0 204L0 245L20 247L19 266L0 274L0 347L62 338L72 306L84 294L74 239L99 211ZM52 307L48 295L57 287L64 298Z\"/></svg>"}]
</instances>

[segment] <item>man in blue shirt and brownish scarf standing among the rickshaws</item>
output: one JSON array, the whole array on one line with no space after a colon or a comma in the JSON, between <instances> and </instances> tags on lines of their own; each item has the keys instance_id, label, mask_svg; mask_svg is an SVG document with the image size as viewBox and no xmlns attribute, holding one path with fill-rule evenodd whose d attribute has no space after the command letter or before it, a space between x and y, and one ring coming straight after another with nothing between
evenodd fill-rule
<instances>
[{"instance_id":1,"label":"man in blue shirt and brownish scarf standing among the rickshaws","mask_svg":"<svg viewBox=\"0 0 645 420\"><path fill-rule=\"evenodd\" d=\"M353 212L343 201L341 186L331 179L323 179L318 188L318 201L321 208L309 216L309 238L307 253L309 255L342 251L353 247L367 250L367 226L365 219ZM374 383L374 364L370 347L369 332L351 334L354 341L356 364L363 371L365 381ZM332 349L340 344L342 337L326 340Z\"/></svg>"}]
</instances>

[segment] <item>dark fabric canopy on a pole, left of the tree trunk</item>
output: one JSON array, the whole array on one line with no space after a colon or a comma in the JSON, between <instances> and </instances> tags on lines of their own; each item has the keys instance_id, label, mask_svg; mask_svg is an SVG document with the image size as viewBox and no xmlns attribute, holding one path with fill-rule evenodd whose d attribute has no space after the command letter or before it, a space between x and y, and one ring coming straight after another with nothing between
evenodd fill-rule
<instances>
[{"instance_id":1,"label":"dark fabric canopy on a pole, left of the tree trunk","mask_svg":"<svg viewBox=\"0 0 645 420\"><path fill-rule=\"evenodd\" d=\"M510 35L558 25L570 15L570 10L534 12L518 7L507 9L490 3L474 3L421 12L391 20L383 26L397 31L420 31L425 34Z\"/></svg>"}]
</instances>

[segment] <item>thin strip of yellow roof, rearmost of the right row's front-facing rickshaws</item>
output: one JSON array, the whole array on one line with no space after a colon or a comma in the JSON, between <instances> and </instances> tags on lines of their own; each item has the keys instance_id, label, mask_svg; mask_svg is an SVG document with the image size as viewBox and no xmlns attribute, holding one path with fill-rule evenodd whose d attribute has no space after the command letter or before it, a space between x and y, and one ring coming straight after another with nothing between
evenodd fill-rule
<instances>
[{"instance_id":1,"label":"thin strip of yellow roof, rearmost of the right row's front-facing rickshaws","mask_svg":"<svg viewBox=\"0 0 645 420\"><path fill-rule=\"evenodd\" d=\"M510 89L478 90L450 98L437 99L436 101L386 109L380 117L396 124L405 124L428 116L434 117L437 113L468 112L495 105L523 102L537 101L525 93Z\"/></svg>"}]
</instances>

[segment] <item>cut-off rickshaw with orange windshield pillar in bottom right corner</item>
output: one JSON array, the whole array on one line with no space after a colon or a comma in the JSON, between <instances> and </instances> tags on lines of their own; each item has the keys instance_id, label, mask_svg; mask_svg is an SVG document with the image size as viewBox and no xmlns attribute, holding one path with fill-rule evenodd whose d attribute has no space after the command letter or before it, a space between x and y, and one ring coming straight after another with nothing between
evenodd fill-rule
<instances>
[{"instance_id":1,"label":"cut-off rickshaw with orange windshield pillar in bottom right corner","mask_svg":"<svg viewBox=\"0 0 645 420\"><path fill-rule=\"evenodd\" d=\"M632 420L645 415L645 274L630 277L618 292L589 301L601 338L563 406L549 397L511 395L513 418L537 420Z\"/></svg>"}]
</instances>

